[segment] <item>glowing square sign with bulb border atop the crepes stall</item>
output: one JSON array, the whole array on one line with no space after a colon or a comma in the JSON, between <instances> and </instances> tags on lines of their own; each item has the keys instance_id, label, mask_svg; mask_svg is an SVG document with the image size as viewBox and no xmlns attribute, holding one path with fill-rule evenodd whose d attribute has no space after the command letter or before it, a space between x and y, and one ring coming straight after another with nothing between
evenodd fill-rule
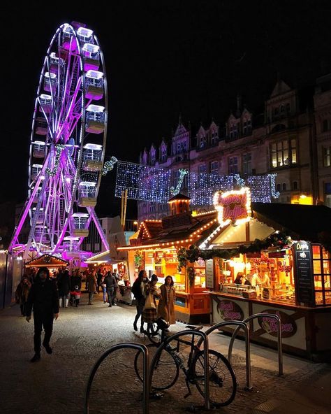
<instances>
[{"instance_id":1,"label":"glowing square sign with bulb border atop the crepes stall","mask_svg":"<svg viewBox=\"0 0 331 414\"><path fill-rule=\"evenodd\" d=\"M221 227L251 220L251 192L248 187L228 192L218 191L214 194L214 206L218 210Z\"/></svg>"}]
</instances>

